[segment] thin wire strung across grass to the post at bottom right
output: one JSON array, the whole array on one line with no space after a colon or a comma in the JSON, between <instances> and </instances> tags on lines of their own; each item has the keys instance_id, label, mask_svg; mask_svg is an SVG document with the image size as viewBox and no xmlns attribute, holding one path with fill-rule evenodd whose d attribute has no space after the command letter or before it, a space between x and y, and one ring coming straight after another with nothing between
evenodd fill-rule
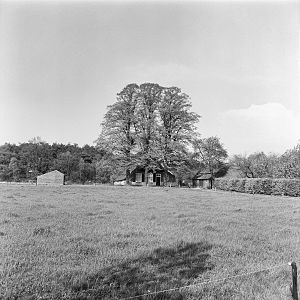
<instances>
[{"instance_id":1,"label":"thin wire strung across grass to the post at bottom right","mask_svg":"<svg viewBox=\"0 0 300 300\"><path fill-rule=\"evenodd\" d=\"M296 264L299 265L299 262L296 262ZM131 297L118 298L118 300L130 300L130 299L137 299L137 298L143 298L143 297L148 297L148 296L154 296L154 295L158 295L158 294L162 294L162 293L181 291L181 290L184 290L184 289L189 289L189 288L193 288L193 287L200 287L202 285L207 285L207 284L219 283L219 282L232 280L232 279L236 279L236 278L240 278L240 277L245 277L245 276L249 276L249 275L253 275L253 274L258 274L258 273L262 273L262 272L266 272L266 271L270 271L270 270L274 270L274 269L279 269L279 268L287 267L287 266L291 266L291 263L286 262L286 263L282 263L280 265L275 265L275 266L272 266L272 267L269 267L269 268L264 268L264 269L260 269L260 270L256 270L256 271L251 271L251 272L247 272L247 273L243 273L243 274L239 274L239 275L233 275L233 276L224 277L224 278L215 279L215 280L206 280L206 281L202 281L202 282L195 283L195 284L190 284L190 285L185 285L185 286L181 286L181 287L177 287L177 288L165 289L165 290L160 290L160 291L155 291L155 292L149 292L149 293L140 294L140 295L131 296ZM300 278L300 273L298 274L298 277ZM294 298L294 299L298 299L298 298Z\"/></svg>"}]
</instances>

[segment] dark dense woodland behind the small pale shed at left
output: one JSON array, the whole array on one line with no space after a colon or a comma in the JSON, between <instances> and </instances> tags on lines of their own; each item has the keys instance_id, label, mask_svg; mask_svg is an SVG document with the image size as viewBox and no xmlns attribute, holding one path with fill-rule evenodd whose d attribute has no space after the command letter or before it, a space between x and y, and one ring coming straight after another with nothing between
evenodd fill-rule
<instances>
[{"instance_id":1,"label":"dark dense woodland behind the small pale shed at left","mask_svg":"<svg viewBox=\"0 0 300 300\"><path fill-rule=\"evenodd\" d=\"M35 138L19 145L0 146L0 181L28 181L37 175L58 170L70 182L97 179L97 161L104 152L93 146L52 145Z\"/></svg>"}]
</instances>

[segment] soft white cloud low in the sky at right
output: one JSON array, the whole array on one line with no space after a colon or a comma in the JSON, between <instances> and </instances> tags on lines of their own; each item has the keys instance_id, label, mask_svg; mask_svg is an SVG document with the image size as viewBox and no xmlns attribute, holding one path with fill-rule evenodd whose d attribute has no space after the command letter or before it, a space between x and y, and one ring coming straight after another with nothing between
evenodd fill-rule
<instances>
[{"instance_id":1,"label":"soft white cloud low in the sky at right","mask_svg":"<svg viewBox=\"0 0 300 300\"><path fill-rule=\"evenodd\" d=\"M221 115L219 136L233 153L283 153L300 140L300 115L279 103L251 105Z\"/></svg>"}]
</instances>

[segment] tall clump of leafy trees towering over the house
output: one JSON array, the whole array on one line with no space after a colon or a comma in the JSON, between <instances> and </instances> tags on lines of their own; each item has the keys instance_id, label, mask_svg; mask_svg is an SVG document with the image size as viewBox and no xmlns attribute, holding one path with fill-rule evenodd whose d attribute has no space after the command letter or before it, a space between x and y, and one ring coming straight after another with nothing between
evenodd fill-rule
<instances>
[{"instance_id":1,"label":"tall clump of leafy trees towering over the house","mask_svg":"<svg viewBox=\"0 0 300 300\"><path fill-rule=\"evenodd\" d=\"M115 173L145 168L163 168L178 173L188 160L187 145L197 135L200 116L191 111L189 96L178 87L155 83L129 84L108 106L97 146L110 155L104 166ZM117 174L115 174L117 175Z\"/></svg>"}]
</instances>

